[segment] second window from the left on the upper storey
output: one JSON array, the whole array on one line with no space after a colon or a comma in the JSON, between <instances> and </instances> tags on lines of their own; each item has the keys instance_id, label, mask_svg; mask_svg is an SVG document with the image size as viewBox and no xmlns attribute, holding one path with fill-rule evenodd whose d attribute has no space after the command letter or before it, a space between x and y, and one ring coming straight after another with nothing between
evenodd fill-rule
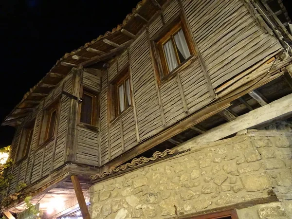
<instances>
[{"instance_id":1,"label":"second window from the left on the upper storey","mask_svg":"<svg viewBox=\"0 0 292 219\"><path fill-rule=\"evenodd\" d=\"M50 139L52 136L55 135L55 127L56 127L56 121L57 121L57 114L58 114L58 104L54 104L51 107L49 107L47 110L45 110L44 114L44 126L45 129L45 135L44 135L44 141Z\"/></svg>"}]
</instances>

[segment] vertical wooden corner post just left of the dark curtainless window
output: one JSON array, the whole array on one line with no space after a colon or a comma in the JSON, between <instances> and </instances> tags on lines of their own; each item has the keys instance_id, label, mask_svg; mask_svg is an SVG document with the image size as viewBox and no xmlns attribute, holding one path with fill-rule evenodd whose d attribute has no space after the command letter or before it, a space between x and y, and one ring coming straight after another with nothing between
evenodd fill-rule
<instances>
[{"instance_id":1,"label":"vertical wooden corner post just left of the dark curtainless window","mask_svg":"<svg viewBox=\"0 0 292 219\"><path fill-rule=\"evenodd\" d=\"M81 70L73 68L71 70L73 73L73 96L79 96L80 86L81 86ZM66 139L67 156L65 161L76 161L77 145L77 113L78 113L78 101L75 99L70 100L70 115L68 122L68 132Z\"/></svg>"}]
</instances>

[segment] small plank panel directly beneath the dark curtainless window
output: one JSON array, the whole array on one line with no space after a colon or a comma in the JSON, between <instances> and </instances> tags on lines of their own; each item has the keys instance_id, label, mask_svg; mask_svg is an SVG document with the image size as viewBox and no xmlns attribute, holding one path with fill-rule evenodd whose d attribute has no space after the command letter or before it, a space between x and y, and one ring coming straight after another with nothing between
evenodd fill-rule
<instances>
[{"instance_id":1,"label":"small plank panel directly beneath the dark curtainless window","mask_svg":"<svg viewBox=\"0 0 292 219\"><path fill-rule=\"evenodd\" d=\"M99 166L99 133L81 127L77 130L76 162Z\"/></svg>"}]
</instances>

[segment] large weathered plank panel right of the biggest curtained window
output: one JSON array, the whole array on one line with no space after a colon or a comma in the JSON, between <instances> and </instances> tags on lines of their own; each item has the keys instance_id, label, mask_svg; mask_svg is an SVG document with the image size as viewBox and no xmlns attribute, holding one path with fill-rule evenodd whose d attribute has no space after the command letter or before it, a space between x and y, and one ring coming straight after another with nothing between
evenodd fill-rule
<instances>
[{"instance_id":1,"label":"large weathered plank panel right of the biggest curtained window","mask_svg":"<svg viewBox=\"0 0 292 219\"><path fill-rule=\"evenodd\" d=\"M281 48L240 0L183 0L213 88Z\"/></svg>"}]
</instances>

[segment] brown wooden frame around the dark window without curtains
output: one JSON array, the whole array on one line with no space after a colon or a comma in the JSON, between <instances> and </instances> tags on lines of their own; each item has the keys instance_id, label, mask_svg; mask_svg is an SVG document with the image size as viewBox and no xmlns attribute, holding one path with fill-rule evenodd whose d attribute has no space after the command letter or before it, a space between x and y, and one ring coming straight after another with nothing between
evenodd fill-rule
<instances>
[{"instance_id":1,"label":"brown wooden frame around the dark window without curtains","mask_svg":"<svg viewBox=\"0 0 292 219\"><path fill-rule=\"evenodd\" d=\"M83 95L86 94L92 97L92 113L91 113L91 124L81 122L81 112L82 112L82 102L79 104L78 107L78 126L83 126L85 128L96 129L99 122L99 94L95 91L92 91L85 87L84 85L81 86L80 89L80 96L83 98Z\"/></svg>"}]
</instances>

